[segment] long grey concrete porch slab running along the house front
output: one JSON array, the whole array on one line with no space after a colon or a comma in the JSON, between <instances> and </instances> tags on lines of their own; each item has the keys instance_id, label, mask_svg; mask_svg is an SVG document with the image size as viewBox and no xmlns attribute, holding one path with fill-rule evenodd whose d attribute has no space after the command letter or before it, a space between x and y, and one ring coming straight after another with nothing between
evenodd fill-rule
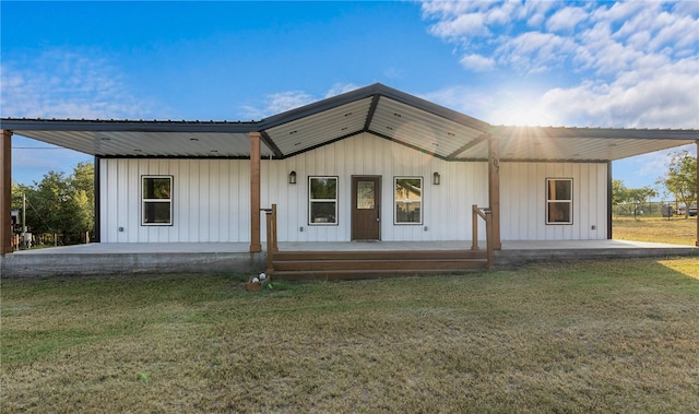
<instances>
[{"instance_id":1,"label":"long grey concrete porch slab running along the house front","mask_svg":"<svg viewBox=\"0 0 699 414\"><path fill-rule=\"evenodd\" d=\"M485 246L485 243L482 243ZM133 273L249 273L264 271L266 250L250 252L247 243L177 243L177 244L90 244L16 251L0 258L2 277L49 275L112 275ZM408 261L411 255L441 251L464 255L471 252L471 241L376 241L376 243L280 243L279 252L306 251L352 252L355 256L392 253ZM328 255L329 256L329 255ZM694 246L653 244L626 240L579 241L502 241L495 251L496 267L517 267L532 261L565 261L580 259L613 259L640 257L699 256ZM383 275L428 274L447 272L437 265L410 272ZM454 270L451 270L453 272ZM358 279L374 276L368 269L355 272ZM281 276L281 275L280 275ZM317 276L329 279L328 276ZM312 279L297 275L289 279Z\"/></svg>"}]
</instances>

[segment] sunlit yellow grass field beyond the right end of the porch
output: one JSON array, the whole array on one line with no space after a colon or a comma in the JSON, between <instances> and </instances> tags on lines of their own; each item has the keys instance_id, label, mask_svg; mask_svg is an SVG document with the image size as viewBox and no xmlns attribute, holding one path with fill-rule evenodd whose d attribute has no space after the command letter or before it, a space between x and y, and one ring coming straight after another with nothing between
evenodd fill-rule
<instances>
[{"instance_id":1,"label":"sunlit yellow grass field beyond the right end of the porch","mask_svg":"<svg viewBox=\"0 0 699 414\"><path fill-rule=\"evenodd\" d=\"M697 240L697 217L614 217L613 236L619 240L667 243L695 246Z\"/></svg>"}]
</instances>

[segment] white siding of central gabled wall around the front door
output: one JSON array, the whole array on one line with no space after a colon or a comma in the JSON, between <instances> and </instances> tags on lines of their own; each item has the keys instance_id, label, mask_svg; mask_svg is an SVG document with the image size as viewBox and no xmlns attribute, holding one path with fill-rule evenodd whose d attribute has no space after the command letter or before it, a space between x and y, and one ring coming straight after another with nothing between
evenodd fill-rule
<instances>
[{"instance_id":1,"label":"white siding of central gabled wall around the front door","mask_svg":"<svg viewBox=\"0 0 699 414\"><path fill-rule=\"evenodd\" d=\"M263 161L262 206L277 204L281 241L350 241L352 177L381 177L381 239L470 240L471 204L487 203L487 163L451 163L364 133L283 161ZM288 184L296 171L297 184ZM441 176L433 185L433 174ZM308 224L308 177L337 177L337 225ZM423 223L395 225L394 177L423 178ZM303 228L303 229L301 229ZM481 234L485 234L482 228ZM471 245L467 245L470 247Z\"/></svg>"}]
</instances>

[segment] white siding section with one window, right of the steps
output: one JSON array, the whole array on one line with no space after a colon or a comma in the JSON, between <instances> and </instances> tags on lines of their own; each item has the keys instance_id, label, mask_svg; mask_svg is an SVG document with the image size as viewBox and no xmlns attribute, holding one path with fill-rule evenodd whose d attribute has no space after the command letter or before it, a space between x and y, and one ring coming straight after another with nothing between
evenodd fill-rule
<instances>
[{"instance_id":1,"label":"white siding section with one window, right of the steps","mask_svg":"<svg viewBox=\"0 0 699 414\"><path fill-rule=\"evenodd\" d=\"M572 178L572 224L546 224L547 178ZM500 163L501 239L606 239L606 189L604 163Z\"/></svg>"}]
</instances>

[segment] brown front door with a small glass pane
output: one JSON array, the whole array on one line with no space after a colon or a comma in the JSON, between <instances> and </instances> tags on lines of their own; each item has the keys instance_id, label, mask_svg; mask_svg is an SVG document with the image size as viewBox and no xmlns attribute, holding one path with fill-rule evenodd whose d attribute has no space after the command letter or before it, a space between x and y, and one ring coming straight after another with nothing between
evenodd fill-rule
<instances>
[{"instance_id":1,"label":"brown front door with a small glass pane","mask_svg":"<svg viewBox=\"0 0 699 414\"><path fill-rule=\"evenodd\" d=\"M381 238L381 177L352 177L352 239Z\"/></svg>"}]
</instances>

